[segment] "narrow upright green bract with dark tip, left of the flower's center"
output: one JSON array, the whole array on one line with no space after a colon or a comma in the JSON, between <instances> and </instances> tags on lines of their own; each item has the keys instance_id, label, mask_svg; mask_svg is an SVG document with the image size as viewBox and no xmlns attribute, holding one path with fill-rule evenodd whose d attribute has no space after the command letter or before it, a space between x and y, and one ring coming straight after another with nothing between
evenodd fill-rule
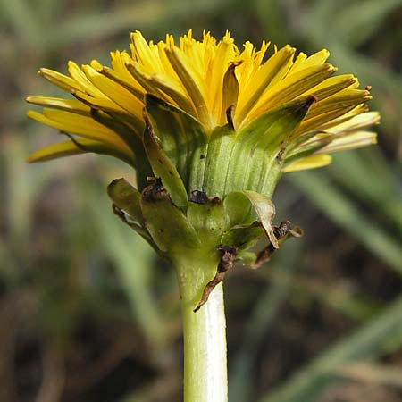
<instances>
[{"instance_id":1,"label":"narrow upright green bract with dark tip, left of the flower's center","mask_svg":"<svg viewBox=\"0 0 402 402\"><path fill-rule=\"evenodd\" d=\"M144 147L147 152L149 163L156 177L160 177L163 187L167 189L175 205L186 212L188 205L188 196L180 174L176 166L164 153L155 136L154 128L151 125L147 115L144 115L146 121L146 130L144 132Z\"/></svg>"}]
</instances>

